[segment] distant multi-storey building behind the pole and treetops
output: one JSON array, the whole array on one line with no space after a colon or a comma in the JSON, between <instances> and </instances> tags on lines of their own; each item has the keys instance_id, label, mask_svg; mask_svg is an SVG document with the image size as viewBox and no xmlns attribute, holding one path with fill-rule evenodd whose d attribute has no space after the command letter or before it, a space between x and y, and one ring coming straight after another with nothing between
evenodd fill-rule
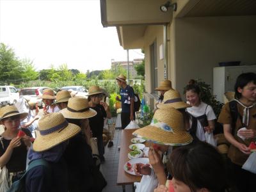
<instances>
[{"instance_id":1,"label":"distant multi-storey building behind the pole and treetops","mask_svg":"<svg viewBox=\"0 0 256 192\"><path fill-rule=\"evenodd\" d=\"M143 61L143 59L134 59L133 61L129 61L129 76L130 79L135 79L138 77L138 74L134 68L135 65L140 64ZM115 61L111 60L111 70L116 70L118 66L122 66L124 70L127 70L127 61ZM127 74L124 74L127 76Z\"/></svg>"}]
</instances>

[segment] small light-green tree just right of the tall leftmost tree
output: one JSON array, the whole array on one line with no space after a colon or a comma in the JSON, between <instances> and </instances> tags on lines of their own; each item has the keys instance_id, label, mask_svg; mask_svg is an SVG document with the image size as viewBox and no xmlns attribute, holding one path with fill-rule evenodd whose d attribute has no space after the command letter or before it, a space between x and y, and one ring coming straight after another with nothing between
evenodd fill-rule
<instances>
[{"instance_id":1,"label":"small light-green tree just right of the tall leftmost tree","mask_svg":"<svg viewBox=\"0 0 256 192\"><path fill-rule=\"evenodd\" d=\"M24 59L21 61L23 72L21 74L23 81L33 81L36 80L39 76L39 73L36 72L33 61Z\"/></svg>"}]
</instances>

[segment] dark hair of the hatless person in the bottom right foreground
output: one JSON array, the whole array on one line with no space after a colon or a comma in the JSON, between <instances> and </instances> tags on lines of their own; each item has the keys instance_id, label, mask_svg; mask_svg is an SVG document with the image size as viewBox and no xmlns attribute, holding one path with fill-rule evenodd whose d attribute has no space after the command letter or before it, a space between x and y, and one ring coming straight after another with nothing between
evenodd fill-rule
<instances>
[{"instance_id":1,"label":"dark hair of the hatless person in the bottom right foreground","mask_svg":"<svg viewBox=\"0 0 256 192\"><path fill-rule=\"evenodd\" d=\"M184 182L191 191L206 188L211 192L226 187L225 167L221 154L208 143L179 147L170 156L170 173Z\"/></svg>"}]
</instances>

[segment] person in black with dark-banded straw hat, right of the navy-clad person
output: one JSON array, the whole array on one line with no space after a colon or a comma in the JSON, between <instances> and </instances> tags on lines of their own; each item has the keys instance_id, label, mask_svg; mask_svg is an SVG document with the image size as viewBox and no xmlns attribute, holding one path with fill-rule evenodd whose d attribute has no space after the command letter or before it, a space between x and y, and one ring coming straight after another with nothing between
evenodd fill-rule
<instances>
[{"instance_id":1,"label":"person in black with dark-banded straw hat, right of the navy-clad person","mask_svg":"<svg viewBox=\"0 0 256 192\"><path fill-rule=\"evenodd\" d=\"M88 118L97 115L84 97L72 97L68 100L68 106L60 111L68 122L72 122L82 128L82 132L72 138L65 151L64 157L68 166L68 191L93 191L100 184L92 175L95 170L92 148L86 138L86 130L90 130ZM98 172L99 173L99 172ZM101 174L101 173L99 173ZM100 180L98 180L100 183Z\"/></svg>"}]
</instances>

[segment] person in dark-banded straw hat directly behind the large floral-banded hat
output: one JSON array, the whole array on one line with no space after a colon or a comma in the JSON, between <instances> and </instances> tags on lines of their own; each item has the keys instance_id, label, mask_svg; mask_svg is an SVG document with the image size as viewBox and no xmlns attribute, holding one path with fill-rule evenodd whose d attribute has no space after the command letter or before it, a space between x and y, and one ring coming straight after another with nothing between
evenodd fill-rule
<instances>
[{"instance_id":1,"label":"person in dark-banded straw hat directly behind the large floral-banded hat","mask_svg":"<svg viewBox=\"0 0 256 192\"><path fill-rule=\"evenodd\" d=\"M189 131L191 136L193 136L194 141L205 141L205 136L201 136L201 126L200 122L195 118L195 116L191 115L186 111L187 108L191 108L189 104L182 101L180 97L180 93L177 90L169 90L164 93L163 103L158 104L157 108L175 108L182 113L184 117L184 123L186 130Z\"/></svg>"}]
</instances>

